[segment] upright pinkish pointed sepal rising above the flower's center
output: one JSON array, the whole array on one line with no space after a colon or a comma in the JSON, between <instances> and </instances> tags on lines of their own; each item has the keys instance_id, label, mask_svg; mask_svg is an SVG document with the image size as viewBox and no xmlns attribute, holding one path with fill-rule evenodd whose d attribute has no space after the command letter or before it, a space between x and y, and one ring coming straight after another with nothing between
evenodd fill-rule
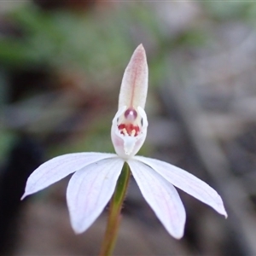
<instances>
[{"instance_id":1,"label":"upright pinkish pointed sepal rising above the flower's center","mask_svg":"<svg viewBox=\"0 0 256 256\"><path fill-rule=\"evenodd\" d=\"M148 92L148 64L143 44L135 49L125 69L119 93L119 108L145 108Z\"/></svg>"}]
</instances>

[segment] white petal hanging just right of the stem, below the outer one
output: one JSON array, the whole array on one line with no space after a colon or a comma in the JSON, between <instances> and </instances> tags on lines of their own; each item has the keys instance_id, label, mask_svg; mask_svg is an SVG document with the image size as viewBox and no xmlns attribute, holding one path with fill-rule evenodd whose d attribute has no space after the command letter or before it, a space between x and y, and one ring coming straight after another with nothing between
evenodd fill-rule
<instances>
[{"instance_id":1,"label":"white petal hanging just right of the stem, below the outer one","mask_svg":"<svg viewBox=\"0 0 256 256\"><path fill-rule=\"evenodd\" d=\"M177 190L149 166L128 160L133 177L160 222L175 238L183 236L186 212Z\"/></svg>"}]
</instances>

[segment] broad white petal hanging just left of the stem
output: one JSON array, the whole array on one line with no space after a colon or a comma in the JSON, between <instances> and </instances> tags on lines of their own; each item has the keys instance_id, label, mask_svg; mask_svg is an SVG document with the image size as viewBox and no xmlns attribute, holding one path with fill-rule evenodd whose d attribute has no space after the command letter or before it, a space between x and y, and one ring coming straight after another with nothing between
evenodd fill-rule
<instances>
[{"instance_id":1,"label":"broad white petal hanging just left of the stem","mask_svg":"<svg viewBox=\"0 0 256 256\"><path fill-rule=\"evenodd\" d=\"M67 207L76 233L82 233L101 214L113 195L124 160L101 160L75 172L67 186Z\"/></svg>"}]
</instances>

